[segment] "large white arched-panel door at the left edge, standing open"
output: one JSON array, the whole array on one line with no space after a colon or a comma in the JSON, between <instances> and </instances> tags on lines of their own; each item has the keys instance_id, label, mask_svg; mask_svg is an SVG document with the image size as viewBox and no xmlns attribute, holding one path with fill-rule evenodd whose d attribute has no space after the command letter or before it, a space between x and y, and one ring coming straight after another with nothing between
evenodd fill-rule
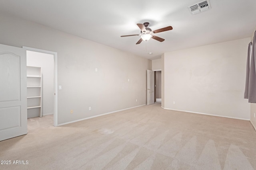
<instances>
[{"instance_id":1,"label":"large white arched-panel door at the left edge, standing open","mask_svg":"<svg viewBox=\"0 0 256 170\"><path fill-rule=\"evenodd\" d=\"M26 50L0 44L0 141L27 134Z\"/></svg>"}]
</instances>

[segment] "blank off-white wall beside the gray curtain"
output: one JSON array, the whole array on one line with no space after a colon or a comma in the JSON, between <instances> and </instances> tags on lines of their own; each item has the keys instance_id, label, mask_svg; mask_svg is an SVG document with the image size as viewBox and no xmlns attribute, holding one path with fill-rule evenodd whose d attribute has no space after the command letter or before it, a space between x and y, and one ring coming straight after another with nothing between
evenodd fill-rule
<instances>
[{"instance_id":1,"label":"blank off-white wall beside the gray curtain","mask_svg":"<svg viewBox=\"0 0 256 170\"><path fill-rule=\"evenodd\" d=\"M250 119L244 99L249 42L246 38L165 53L164 107Z\"/></svg>"}]
</instances>

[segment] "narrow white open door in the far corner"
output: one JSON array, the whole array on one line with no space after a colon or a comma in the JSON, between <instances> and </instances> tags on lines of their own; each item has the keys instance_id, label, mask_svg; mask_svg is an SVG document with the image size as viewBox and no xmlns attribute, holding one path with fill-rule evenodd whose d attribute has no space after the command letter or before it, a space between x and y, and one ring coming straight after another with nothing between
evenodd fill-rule
<instances>
[{"instance_id":1,"label":"narrow white open door in the far corner","mask_svg":"<svg viewBox=\"0 0 256 170\"><path fill-rule=\"evenodd\" d=\"M148 102L147 104L153 104L154 103L154 71L147 70L147 80L148 80Z\"/></svg>"}]
</instances>

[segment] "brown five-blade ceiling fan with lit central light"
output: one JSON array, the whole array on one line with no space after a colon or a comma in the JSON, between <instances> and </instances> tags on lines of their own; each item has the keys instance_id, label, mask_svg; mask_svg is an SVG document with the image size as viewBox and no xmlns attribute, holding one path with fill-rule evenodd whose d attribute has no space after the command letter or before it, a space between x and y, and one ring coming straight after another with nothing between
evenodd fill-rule
<instances>
[{"instance_id":1,"label":"brown five-blade ceiling fan with lit central light","mask_svg":"<svg viewBox=\"0 0 256 170\"><path fill-rule=\"evenodd\" d=\"M163 42L164 39L162 39L162 38L160 38L160 37L158 37L154 34L172 30L172 26L168 26L168 27L164 27L164 28L160 28L160 29L156 29L156 30L152 31L152 29L150 29L148 27L148 25L149 25L148 22L144 22L143 24L142 23L137 23L137 25L141 30L140 34L122 35L121 37L130 37L130 36L141 35L139 41L136 44L140 44L143 40L148 41L150 38L155 39L155 40L160 41L160 42Z\"/></svg>"}]
</instances>

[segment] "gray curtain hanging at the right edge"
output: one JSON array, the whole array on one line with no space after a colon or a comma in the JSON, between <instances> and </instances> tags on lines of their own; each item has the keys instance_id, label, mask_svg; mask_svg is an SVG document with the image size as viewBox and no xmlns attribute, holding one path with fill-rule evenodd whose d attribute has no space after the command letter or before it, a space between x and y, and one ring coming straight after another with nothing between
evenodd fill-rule
<instances>
[{"instance_id":1,"label":"gray curtain hanging at the right edge","mask_svg":"<svg viewBox=\"0 0 256 170\"><path fill-rule=\"evenodd\" d=\"M248 98L249 103L256 103L256 31L254 32L254 37L252 40L251 61L249 62L250 66L248 64L248 60L250 60L250 44L248 47L247 55L246 88L244 92L244 98Z\"/></svg>"}]
</instances>

